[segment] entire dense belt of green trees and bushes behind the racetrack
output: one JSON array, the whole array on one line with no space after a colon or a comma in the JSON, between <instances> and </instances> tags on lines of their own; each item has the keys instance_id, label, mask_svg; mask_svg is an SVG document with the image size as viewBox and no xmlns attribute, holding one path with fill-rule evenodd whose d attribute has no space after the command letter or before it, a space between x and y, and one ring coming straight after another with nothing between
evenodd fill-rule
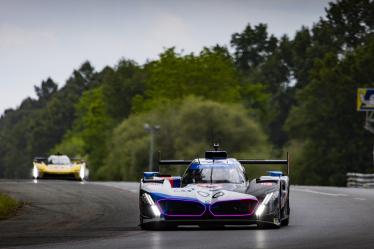
<instances>
[{"instance_id":1,"label":"entire dense belt of green trees and bushes behind the racetrack","mask_svg":"<svg viewBox=\"0 0 374 249\"><path fill-rule=\"evenodd\" d=\"M148 122L161 126L164 157L195 157L213 142L239 157L289 150L294 183L344 185L347 171L372 168L355 92L374 86L373 13L372 0L339 0L293 38L248 24L231 49L169 48L100 72L85 62L62 88L47 79L37 99L1 116L0 176L28 177L34 156L59 151L85 158L94 179L136 180Z\"/></svg>"}]
</instances>

